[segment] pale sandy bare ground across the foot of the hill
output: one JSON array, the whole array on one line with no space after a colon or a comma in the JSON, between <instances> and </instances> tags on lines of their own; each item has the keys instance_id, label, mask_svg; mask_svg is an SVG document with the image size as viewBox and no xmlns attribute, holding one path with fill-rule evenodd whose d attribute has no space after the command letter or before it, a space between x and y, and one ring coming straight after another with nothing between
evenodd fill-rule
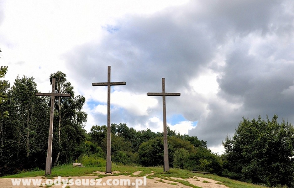
<instances>
[{"instance_id":1,"label":"pale sandy bare ground across the foot of the hill","mask_svg":"<svg viewBox=\"0 0 294 188\"><path fill-rule=\"evenodd\" d=\"M97 174L100 174L100 172L96 172ZM140 174L141 171L135 172L134 174ZM141 174L142 175L142 174ZM66 181L67 179L67 184L60 184L58 185L53 185L52 188L89 188L89 187L118 187L118 188L133 188L136 187L135 183L137 182L137 187L140 188L167 188L167 187L171 187L171 188L190 188L186 185L182 185L181 183L178 182L174 182L171 180L162 180L160 178L154 178L154 179L148 179L148 178L144 178L144 177L131 177L131 176L125 176L125 175L120 175L120 176L106 176L103 178L99 178L99 179L95 179L98 176L81 176L81 177L61 177L59 180L61 181ZM41 186L43 184L43 187L46 187L45 182L48 179L45 179L44 176L38 176L35 178L17 178L17 179L32 179L31 181L33 182L34 180L41 180ZM62 180L63 179L63 180ZM128 185L128 182L125 182L124 180L129 180L130 184ZM202 187L202 188L227 188L225 185L220 185L220 184L216 184L217 181L215 180L211 180L211 179L207 179L207 178L201 178L201 177L196 177L194 176L193 178L189 178L189 179L181 179L181 178L172 178L174 180L176 179L180 179L180 180L186 180L189 181L189 183L196 185L198 187ZM58 178L55 178L55 182L58 180ZM52 181L54 181L54 179L52 179ZM120 184L120 181L122 181L123 183L121 185L116 185L116 184ZM203 181L208 181L208 182L203 182ZM107 183L108 182L108 183ZM109 185L112 184L112 185ZM172 185L175 184L176 185ZM108 185L107 185L108 184ZM141 185L140 185L141 184ZM145 184L145 185L144 185ZM0 187L2 188L27 188L27 187L34 187L34 188L39 188L41 187L40 185L33 185L33 183L31 183L30 186L25 186L22 184L22 182L20 182L20 185L15 186L12 184L12 179L11 178L3 178L0 179Z\"/></svg>"}]
</instances>

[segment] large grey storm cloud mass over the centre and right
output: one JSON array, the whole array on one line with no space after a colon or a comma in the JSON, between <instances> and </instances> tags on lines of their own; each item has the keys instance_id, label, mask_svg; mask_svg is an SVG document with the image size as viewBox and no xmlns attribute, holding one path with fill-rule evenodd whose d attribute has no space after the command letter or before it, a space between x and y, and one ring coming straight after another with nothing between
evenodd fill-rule
<instances>
[{"instance_id":1,"label":"large grey storm cloud mass over the centre and right","mask_svg":"<svg viewBox=\"0 0 294 188\"><path fill-rule=\"evenodd\" d=\"M276 113L294 122L293 12L291 1L191 1L117 20L102 41L77 47L66 60L80 82L106 81L111 65L112 81L127 82L123 91L160 92L165 77L167 92L182 93L168 99L169 114L199 120L189 134L215 146L242 116ZM225 65L215 62L218 55ZM218 74L218 94L208 99L189 85L203 67ZM138 124L148 119L125 116Z\"/></svg>"}]
</instances>

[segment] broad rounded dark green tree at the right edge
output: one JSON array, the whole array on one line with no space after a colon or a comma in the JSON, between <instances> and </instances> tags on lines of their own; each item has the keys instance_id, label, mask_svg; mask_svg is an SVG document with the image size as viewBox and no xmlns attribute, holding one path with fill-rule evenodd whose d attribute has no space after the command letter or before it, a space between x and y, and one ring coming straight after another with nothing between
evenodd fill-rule
<instances>
[{"instance_id":1,"label":"broad rounded dark green tree at the right edge","mask_svg":"<svg viewBox=\"0 0 294 188\"><path fill-rule=\"evenodd\" d=\"M267 186L294 187L294 128L277 115L270 121L243 117L234 137L223 142L225 175Z\"/></svg>"}]
</instances>

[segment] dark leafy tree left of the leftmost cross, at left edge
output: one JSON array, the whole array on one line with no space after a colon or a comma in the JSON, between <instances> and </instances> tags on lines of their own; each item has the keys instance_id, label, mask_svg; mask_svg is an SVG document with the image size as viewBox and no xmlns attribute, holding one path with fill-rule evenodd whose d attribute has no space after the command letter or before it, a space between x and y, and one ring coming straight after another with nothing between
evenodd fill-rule
<instances>
[{"instance_id":1,"label":"dark leafy tree left of the leftmost cross, at left edge","mask_svg":"<svg viewBox=\"0 0 294 188\"><path fill-rule=\"evenodd\" d=\"M35 97L36 84L26 76L15 79L0 105L9 116L1 119L1 168L4 174L40 167L45 161L49 121L47 102ZM2 110L1 110L2 111Z\"/></svg>"}]
</instances>

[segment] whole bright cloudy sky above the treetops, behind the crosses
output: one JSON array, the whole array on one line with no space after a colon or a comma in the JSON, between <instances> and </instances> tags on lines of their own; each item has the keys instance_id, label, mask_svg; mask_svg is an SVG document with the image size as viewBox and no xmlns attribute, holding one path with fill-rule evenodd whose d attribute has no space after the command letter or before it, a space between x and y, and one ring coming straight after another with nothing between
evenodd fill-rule
<instances>
[{"instance_id":1,"label":"whole bright cloudy sky above the treetops, behind the crosses","mask_svg":"<svg viewBox=\"0 0 294 188\"><path fill-rule=\"evenodd\" d=\"M294 1L0 0L0 65L5 80L34 77L50 92L62 71L83 95L85 129L111 123L197 136L222 154L242 117L294 122Z\"/></svg>"}]
</instances>

